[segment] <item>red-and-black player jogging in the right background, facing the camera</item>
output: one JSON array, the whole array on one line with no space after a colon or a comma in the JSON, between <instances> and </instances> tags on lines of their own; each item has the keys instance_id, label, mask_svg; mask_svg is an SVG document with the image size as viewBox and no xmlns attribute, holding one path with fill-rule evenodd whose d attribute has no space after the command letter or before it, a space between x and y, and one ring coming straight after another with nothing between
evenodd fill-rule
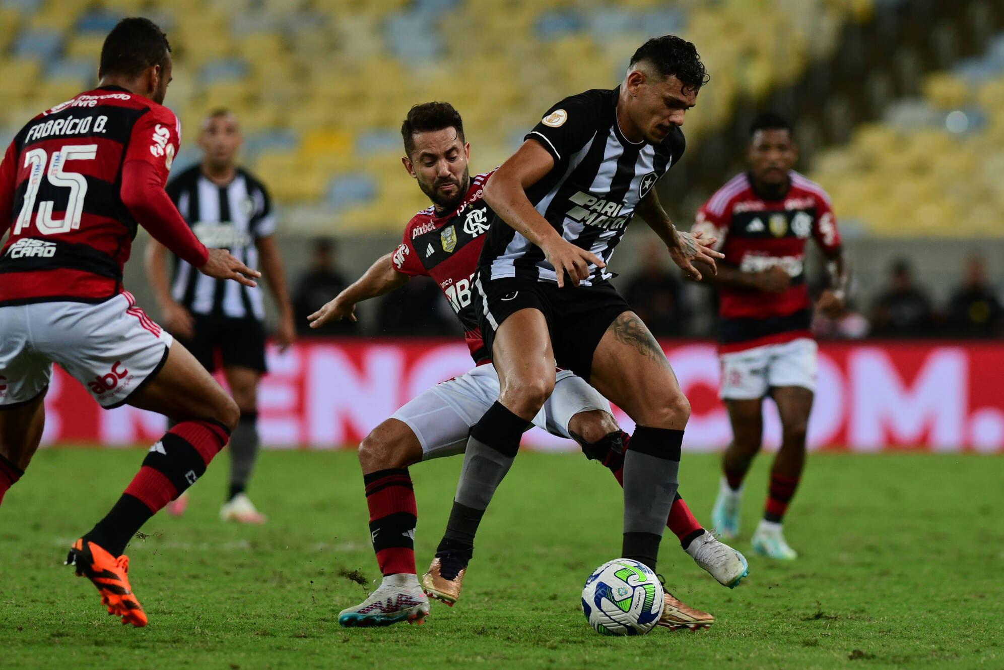
<instances>
[{"instance_id":1,"label":"red-and-black player jogging in the right background, facing the camera","mask_svg":"<svg viewBox=\"0 0 1004 670\"><path fill-rule=\"evenodd\" d=\"M712 522L727 537L738 531L743 479L760 449L762 404L770 396L781 417L783 440L752 544L757 552L778 560L798 555L784 539L781 521L805 462L815 392L806 242L815 240L830 275L815 308L838 315L848 280L829 197L792 170L797 158L788 121L772 113L760 115L750 128L749 171L719 189L694 224L695 231L717 237L725 254L711 281L719 294L720 395L734 437L725 452Z\"/></svg>"}]
</instances>

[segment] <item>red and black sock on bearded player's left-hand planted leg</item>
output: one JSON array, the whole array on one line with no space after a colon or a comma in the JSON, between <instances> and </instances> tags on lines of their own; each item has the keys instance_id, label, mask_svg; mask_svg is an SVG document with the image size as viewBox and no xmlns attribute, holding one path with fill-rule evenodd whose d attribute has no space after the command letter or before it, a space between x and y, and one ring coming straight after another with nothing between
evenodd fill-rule
<instances>
[{"instance_id":1,"label":"red and black sock on bearded player's left-hand planted leg","mask_svg":"<svg viewBox=\"0 0 1004 670\"><path fill-rule=\"evenodd\" d=\"M369 507L369 539L383 575L415 575L418 506L408 468L362 475Z\"/></svg>"}]
</instances>

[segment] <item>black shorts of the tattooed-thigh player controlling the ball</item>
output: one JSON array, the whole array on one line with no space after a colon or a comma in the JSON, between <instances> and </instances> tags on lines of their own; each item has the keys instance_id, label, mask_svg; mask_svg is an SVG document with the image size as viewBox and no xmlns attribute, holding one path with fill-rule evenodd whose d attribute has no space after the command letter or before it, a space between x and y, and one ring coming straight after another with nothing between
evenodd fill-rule
<instances>
[{"instance_id":1,"label":"black shorts of the tattooed-thigh player controlling the ball","mask_svg":"<svg viewBox=\"0 0 1004 670\"><path fill-rule=\"evenodd\" d=\"M486 307L481 310L481 334L492 351L495 330L511 314L533 307L544 314L554 361L588 381L592 354L613 320L631 305L608 281L564 288L551 282L500 277L481 284Z\"/></svg>"}]
</instances>

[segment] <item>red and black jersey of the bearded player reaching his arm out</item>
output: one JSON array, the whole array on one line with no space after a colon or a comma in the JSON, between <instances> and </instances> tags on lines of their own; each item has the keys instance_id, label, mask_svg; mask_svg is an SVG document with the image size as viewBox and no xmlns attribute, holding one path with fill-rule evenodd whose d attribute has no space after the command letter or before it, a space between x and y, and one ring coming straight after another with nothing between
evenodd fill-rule
<instances>
[{"instance_id":1,"label":"red and black jersey of the bearded player reaching his arm out","mask_svg":"<svg viewBox=\"0 0 1004 670\"><path fill-rule=\"evenodd\" d=\"M472 179L460 206L449 213L439 216L430 207L413 216L393 256L399 272L432 277L439 284L464 326L464 339L478 365L491 360L478 327L481 298L474 287L474 273L492 214L481 198L493 174Z\"/></svg>"}]
</instances>

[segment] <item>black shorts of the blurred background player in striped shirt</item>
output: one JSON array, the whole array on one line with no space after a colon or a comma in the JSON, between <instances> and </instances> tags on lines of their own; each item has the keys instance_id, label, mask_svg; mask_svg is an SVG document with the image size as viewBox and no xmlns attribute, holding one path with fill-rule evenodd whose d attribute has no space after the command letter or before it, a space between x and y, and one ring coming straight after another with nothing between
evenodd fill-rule
<instances>
[{"instance_id":1,"label":"black shorts of the blurred background player in striped shirt","mask_svg":"<svg viewBox=\"0 0 1004 670\"><path fill-rule=\"evenodd\" d=\"M232 318L192 314L195 337L177 338L209 372L217 369L217 356L224 367L238 366L265 373L265 327L257 318Z\"/></svg>"}]
</instances>

